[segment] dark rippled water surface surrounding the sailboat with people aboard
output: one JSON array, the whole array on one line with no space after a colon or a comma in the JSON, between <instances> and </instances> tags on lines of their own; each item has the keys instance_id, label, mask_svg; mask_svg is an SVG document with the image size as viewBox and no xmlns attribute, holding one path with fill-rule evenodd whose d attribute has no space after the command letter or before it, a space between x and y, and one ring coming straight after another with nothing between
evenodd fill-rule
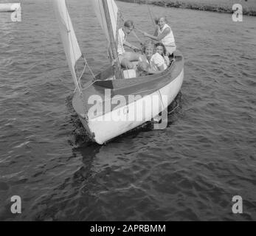
<instances>
[{"instance_id":1,"label":"dark rippled water surface surrounding the sailboat with people aboard","mask_svg":"<svg viewBox=\"0 0 256 236\"><path fill-rule=\"evenodd\" d=\"M86 141L49 0L0 13L0 220L256 220L254 17L153 7L184 54L178 108L165 130L146 126L107 145ZM152 32L145 5L118 1ZM87 1L68 4L94 72L105 39ZM142 38L142 35L139 35ZM130 41L136 41L130 38ZM22 213L10 212L20 195ZM232 214L232 196L243 214Z\"/></svg>"}]
</instances>

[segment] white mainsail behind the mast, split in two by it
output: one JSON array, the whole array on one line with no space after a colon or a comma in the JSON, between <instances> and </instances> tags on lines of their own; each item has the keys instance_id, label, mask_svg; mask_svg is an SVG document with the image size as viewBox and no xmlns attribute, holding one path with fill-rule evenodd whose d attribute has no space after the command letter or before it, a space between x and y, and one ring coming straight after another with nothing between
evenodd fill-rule
<instances>
[{"instance_id":1,"label":"white mainsail behind the mast, split in two by it","mask_svg":"<svg viewBox=\"0 0 256 236\"><path fill-rule=\"evenodd\" d=\"M114 2L114 0L106 0L106 3L108 4L108 10L111 18L111 26L113 30L114 40L116 40L118 7L117 7L117 4ZM108 36L108 27L105 20L103 0L91 0L91 4L94 8L95 14L97 15L97 19L100 22L100 26L102 27L103 32L105 33L105 36L108 39L108 42L110 42L110 39Z\"/></svg>"}]
</instances>

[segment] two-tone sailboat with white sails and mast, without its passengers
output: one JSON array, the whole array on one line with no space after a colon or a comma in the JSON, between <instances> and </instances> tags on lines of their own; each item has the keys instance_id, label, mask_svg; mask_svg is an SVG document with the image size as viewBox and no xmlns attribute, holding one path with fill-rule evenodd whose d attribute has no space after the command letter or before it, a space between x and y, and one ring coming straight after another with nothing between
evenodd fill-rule
<instances>
[{"instance_id":1,"label":"two-tone sailboat with white sails and mast, without its passengers","mask_svg":"<svg viewBox=\"0 0 256 236\"><path fill-rule=\"evenodd\" d=\"M72 26L65 0L53 0L60 35L69 69L75 83L72 105L94 142L103 145L122 133L157 119L159 125L181 89L184 77L184 58L176 50L171 65L159 74L136 77L133 70L122 69L117 55L119 10L114 0L91 0L100 26L108 41L112 63L99 74L86 78L84 71L76 71L77 60L83 58ZM136 62L134 62L136 63ZM88 82L83 84L81 80ZM160 117L160 119L159 119ZM166 119L165 119L166 120ZM163 122L162 122L163 123Z\"/></svg>"}]
</instances>

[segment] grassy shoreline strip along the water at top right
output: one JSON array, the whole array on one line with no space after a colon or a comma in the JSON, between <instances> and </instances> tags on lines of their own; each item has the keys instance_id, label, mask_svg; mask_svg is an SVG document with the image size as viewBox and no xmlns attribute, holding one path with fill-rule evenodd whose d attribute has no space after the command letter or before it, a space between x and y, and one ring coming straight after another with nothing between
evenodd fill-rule
<instances>
[{"instance_id":1,"label":"grassy shoreline strip along the water at top right","mask_svg":"<svg viewBox=\"0 0 256 236\"><path fill-rule=\"evenodd\" d=\"M117 1L125 1L125 2L131 2L136 4L152 4L159 7L176 7L181 9L191 9L191 10L204 10L204 11L210 11L210 12L216 12L216 13L229 13L232 14L234 11L232 10L232 7L227 6L225 4L223 5L217 5L217 4L211 4L208 2L201 2L198 3L196 1L185 1L185 0L117 0ZM246 1L245 1L246 2ZM242 4L243 6L243 4ZM256 16L256 7L254 9L250 9L249 7L243 7L243 15L251 15Z\"/></svg>"}]
</instances>

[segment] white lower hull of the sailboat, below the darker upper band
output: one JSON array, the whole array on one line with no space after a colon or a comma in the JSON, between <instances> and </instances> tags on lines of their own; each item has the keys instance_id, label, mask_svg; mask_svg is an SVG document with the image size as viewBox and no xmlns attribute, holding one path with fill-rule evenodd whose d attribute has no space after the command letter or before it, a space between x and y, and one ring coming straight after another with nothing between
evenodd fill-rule
<instances>
[{"instance_id":1,"label":"white lower hull of the sailboat, below the darker upper band","mask_svg":"<svg viewBox=\"0 0 256 236\"><path fill-rule=\"evenodd\" d=\"M158 116L159 112L164 111L179 93L183 83L183 77L184 70L182 69L180 74L174 80L158 91L148 94L147 96L136 100L134 103L129 103L128 105L114 109L101 117L85 119L80 114L78 114L78 116L80 121L83 123L84 128L86 128L86 131L91 134L91 138L98 144L103 145L108 140L113 139L116 136L120 136L122 133L126 133L127 131L131 131L133 128L136 128ZM150 103L156 96L159 97L159 100L161 100L162 97L167 96L167 103L159 103L159 105L153 106L152 109L145 109L142 119L113 119L113 117L120 117L120 114L124 114L124 111L128 111L131 117L137 117L137 114L134 114L137 111L136 107L142 103Z\"/></svg>"}]
</instances>

